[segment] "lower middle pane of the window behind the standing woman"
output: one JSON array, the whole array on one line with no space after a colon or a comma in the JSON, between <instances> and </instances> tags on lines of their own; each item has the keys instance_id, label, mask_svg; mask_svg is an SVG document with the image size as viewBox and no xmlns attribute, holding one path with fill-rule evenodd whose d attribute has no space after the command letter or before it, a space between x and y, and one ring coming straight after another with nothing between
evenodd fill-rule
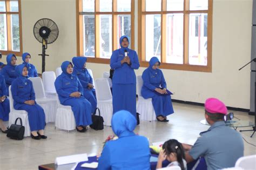
<instances>
[{"instance_id":1,"label":"lower middle pane of the window behind the standing woman","mask_svg":"<svg viewBox=\"0 0 256 170\"><path fill-rule=\"evenodd\" d=\"M100 15L100 57L112 55L112 15Z\"/></svg>"}]
</instances>

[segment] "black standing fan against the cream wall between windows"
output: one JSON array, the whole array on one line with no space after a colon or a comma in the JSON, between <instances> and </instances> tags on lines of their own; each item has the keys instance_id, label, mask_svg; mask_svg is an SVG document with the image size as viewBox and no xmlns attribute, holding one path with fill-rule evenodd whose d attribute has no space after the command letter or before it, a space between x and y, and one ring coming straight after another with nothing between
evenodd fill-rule
<instances>
[{"instance_id":1,"label":"black standing fan against the cream wall between windows","mask_svg":"<svg viewBox=\"0 0 256 170\"><path fill-rule=\"evenodd\" d=\"M47 45L55 42L59 35L59 29L55 22L51 19L43 18L39 19L33 28L33 33L38 42L42 43L42 73L45 71L45 50Z\"/></svg>"}]
</instances>

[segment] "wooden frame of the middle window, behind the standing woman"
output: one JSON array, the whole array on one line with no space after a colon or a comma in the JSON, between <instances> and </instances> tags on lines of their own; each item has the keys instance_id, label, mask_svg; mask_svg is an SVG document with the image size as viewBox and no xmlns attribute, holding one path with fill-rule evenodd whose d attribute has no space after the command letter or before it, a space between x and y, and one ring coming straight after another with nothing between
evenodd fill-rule
<instances>
[{"instance_id":1,"label":"wooden frame of the middle window, behind the standing woman","mask_svg":"<svg viewBox=\"0 0 256 170\"><path fill-rule=\"evenodd\" d=\"M117 45L117 19L118 15L131 15L131 42L130 47L134 49L134 0L131 0L130 12L118 12L117 0L112 0L112 12L99 11L100 0L95 0L95 57L87 57L87 62L109 64L110 59L100 58L100 34L99 34L99 15L112 15L112 51L118 49ZM76 16L77 16L77 56L84 56L83 49L83 0L76 0Z\"/></svg>"}]
</instances>

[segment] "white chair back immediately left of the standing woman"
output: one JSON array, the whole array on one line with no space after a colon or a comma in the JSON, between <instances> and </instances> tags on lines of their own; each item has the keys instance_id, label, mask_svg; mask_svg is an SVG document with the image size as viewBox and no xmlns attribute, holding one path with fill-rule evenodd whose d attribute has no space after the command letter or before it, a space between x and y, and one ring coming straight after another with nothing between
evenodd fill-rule
<instances>
[{"instance_id":1,"label":"white chair back immediately left of the standing woman","mask_svg":"<svg viewBox=\"0 0 256 170\"><path fill-rule=\"evenodd\" d=\"M95 79L95 90L97 100L112 100L109 81L106 78Z\"/></svg>"}]
</instances>

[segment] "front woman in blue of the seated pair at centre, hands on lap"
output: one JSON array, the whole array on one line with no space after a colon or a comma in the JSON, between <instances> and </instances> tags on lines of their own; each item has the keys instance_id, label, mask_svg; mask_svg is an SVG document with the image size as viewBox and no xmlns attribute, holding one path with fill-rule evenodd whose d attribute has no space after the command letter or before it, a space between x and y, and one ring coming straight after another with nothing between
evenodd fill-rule
<instances>
[{"instance_id":1,"label":"front woman in blue of the seated pair at centre, hands on lap","mask_svg":"<svg viewBox=\"0 0 256 170\"><path fill-rule=\"evenodd\" d=\"M58 93L60 104L71 106L76 120L78 132L85 132L86 126L92 124L92 106L83 97L83 86L79 79L73 76L73 65L71 62L62 63L62 74L55 80L55 89Z\"/></svg>"}]
</instances>

